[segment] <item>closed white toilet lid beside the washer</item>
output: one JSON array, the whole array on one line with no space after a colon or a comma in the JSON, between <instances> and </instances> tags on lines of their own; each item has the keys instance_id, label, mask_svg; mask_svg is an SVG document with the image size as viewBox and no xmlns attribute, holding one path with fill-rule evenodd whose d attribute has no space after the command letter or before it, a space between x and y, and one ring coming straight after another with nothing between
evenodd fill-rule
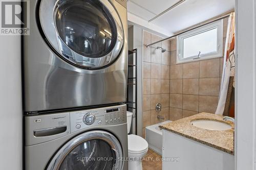
<instances>
[{"instance_id":1,"label":"closed white toilet lid beside the washer","mask_svg":"<svg viewBox=\"0 0 256 170\"><path fill-rule=\"evenodd\" d=\"M146 152L148 148L147 141L137 135L128 135L128 152L139 154Z\"/></svg>"}]
</instances>

